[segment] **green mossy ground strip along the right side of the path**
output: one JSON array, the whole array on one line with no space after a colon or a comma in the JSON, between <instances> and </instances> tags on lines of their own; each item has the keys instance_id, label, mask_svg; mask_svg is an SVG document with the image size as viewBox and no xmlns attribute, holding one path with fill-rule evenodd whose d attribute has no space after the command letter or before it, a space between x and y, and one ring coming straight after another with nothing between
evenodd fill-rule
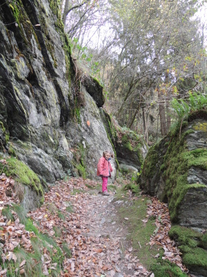
<instances>
[{"instance_id":1,"label":"green mossy ground strip along the right side of the path","mask_svg":"<svg viewBox=\"0 0 207 277\"><path fill-rule=\"evenodd\" d=\"M137 196L137 199L131 200L129 205L127 193L130 188L133 188L136 191L135 195ZM127 228L127 240L131 242L133 255L139 258L141 264L143 264L148 270L152 270L155 277L187 276L179 267L177 267L177 265L161 259L164 249L157 244L150 249L150 236L153 235L153 232L156 229L155 218L149 217L147 223L142 222L142 220L146 219L146 209L150 199L141 195L139 186L131 183L118 188L115 201L117 199L122 199L124 202L126 201L126 204L123 204L119 208L118 220L119 223L124 224L125 228ZM128 220L125 220L125 218L128 218ZM160 258L157 259L155 256L158 253Z\"/></svg>"}]
</instances>

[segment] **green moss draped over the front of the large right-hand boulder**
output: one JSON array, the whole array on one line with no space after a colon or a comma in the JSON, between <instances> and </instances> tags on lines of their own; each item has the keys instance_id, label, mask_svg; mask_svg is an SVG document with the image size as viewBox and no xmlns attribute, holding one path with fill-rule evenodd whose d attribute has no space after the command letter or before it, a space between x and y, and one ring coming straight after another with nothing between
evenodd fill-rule
<instances>
[{"instance_id":1,"label":"green moss draped over the front of the large right-hand boulder","mask_svg":"<svg viewBox=\"0 0 207 277\"><path fill-rule=\"evenodd\" d=\"M202 188L204 184L188 184L188 170L192 166L206 168L207 150L192 150L189 151L184 140L187 134L192 130L188 130L182 134L179 139L179 134L173 137L168 150L164 157L164 177L166 179L165 193L168 197L168 208L172 221L177 220L177 208L182 199L190 188Z\"/></svg>"}]
</instances>

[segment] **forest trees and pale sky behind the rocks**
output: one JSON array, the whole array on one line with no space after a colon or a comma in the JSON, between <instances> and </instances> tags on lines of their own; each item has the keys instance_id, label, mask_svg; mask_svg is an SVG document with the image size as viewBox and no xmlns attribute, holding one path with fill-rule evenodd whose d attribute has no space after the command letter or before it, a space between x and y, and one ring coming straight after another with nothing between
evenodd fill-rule
<instances>
[{"instance_id":1,"label":"forest trees and pale sky behind the rocks","mask_svg":"<svg viewBox=\"0 0 207 277\"><path fill-rule=\"evenodd\" d=\"M104 109L150 145L207 105L207 1L59 2L79 78L103 85ZM203 16L201 16L203 15Z\"/></svg>"}]
</instances>

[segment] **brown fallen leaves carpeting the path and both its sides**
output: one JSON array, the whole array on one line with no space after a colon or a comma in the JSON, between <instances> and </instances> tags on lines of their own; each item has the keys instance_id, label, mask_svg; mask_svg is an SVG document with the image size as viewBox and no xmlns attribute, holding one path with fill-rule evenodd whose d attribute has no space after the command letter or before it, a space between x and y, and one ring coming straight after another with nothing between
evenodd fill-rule
<instances>
[{"instance_id":1,"label":"brown fallen leaves carpeting the path and both its sides","mask_svg":"<svg viewBox=\"0 0 207 277\"><path fill-rule=\"evenodd\" d=\"M90 188L96 188L97 182L82 178L59 181L55 186L50 186L41 208L28 213L34 226L41 233L50 235L62 249L65 258L60 276L154 276L141 265L137 257L133 256L132 247L126 248L127 244L124 244L126 230L115 222L113 195L103 197L98 193L91 193L87 185L90 185ZM8 220L1 213L7 205L19 203L13 188L14 180L2 174L0 176L0 247L3 262L17 260L14 248L19 245L29 253L34 251L30 241L35 237L34 232L26 231L25 226L19 222L17 213L12 211L14 221ZM12 191L9 196L6 195L8 189ZM78 190L79 193L73 193ZM132 197L130 193L129 195ZM155 198L151 200L152 204L148 205L146 220L149 216L155 216L157 229L150 239L149 247L159 244L165 251L163 259L175 262L183 271L187 271L181 263L175 242L168 237L170 217L166 204L161 204ZM70 207L69 211L68 207ZM126 217L125 220L127 221L128 218ZM55 229L59 230L59 236L55 236ZM66 255L64 244L68 245L71 257ZM47 249L43 249L43 253L41 258L43 274L48 276L49 269L55 269L57 263L52 263ZM25 264L26 260L22 260L21 274L24 272ZM0 275L6 276L6 272L7 269L0 266Z\"/></svg>"}]
</instances>

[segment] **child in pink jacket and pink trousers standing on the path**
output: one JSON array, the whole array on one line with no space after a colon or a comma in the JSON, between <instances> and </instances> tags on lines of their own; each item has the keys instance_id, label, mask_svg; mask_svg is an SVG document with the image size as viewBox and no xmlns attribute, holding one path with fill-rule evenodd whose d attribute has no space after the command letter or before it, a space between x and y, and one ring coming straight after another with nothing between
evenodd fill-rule
<instances>
[{"instance_id":1,"label":"child in pink jacket and pink trousers standing on the path","mask_svg":"<svg viewBox=\"0 0 207 277\"><path fill-rule=\"evenodd\" d=\"M104 151L103 157L99 159L99 163L97 165L97 176L100 176L102 178L103 195L109 195L107 190L108 177L110 177L110 172L113 171L110 164L110 157L113 157L113 154L111 154L110 151Z\"/></svg>"}]
</instances>

